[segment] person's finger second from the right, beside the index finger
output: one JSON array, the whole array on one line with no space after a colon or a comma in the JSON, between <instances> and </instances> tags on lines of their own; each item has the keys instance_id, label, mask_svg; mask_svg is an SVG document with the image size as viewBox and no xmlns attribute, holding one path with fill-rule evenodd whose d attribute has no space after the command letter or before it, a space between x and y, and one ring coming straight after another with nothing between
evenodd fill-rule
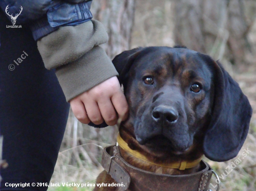
<instances>
[{"instance_id":1,"label":"person's finger second from the right, beside the index finger","mask_svg":"<svg viewBox=\"0 0 256 191\"><path fill-rule=\"evenodd\" d=\"M101 116L103 117L104 121L108 125L114 126L117 121L117 116L111 100L109 98L107 100L101 100L98 102L98 106L100 108Z\"/></svg>"}]
</instances>

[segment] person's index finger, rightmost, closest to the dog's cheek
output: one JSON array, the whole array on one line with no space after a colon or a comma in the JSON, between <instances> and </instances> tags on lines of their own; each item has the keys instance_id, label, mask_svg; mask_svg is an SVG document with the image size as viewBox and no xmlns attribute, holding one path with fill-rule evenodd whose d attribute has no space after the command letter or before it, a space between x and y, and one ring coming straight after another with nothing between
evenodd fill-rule
<instances>
[{"instance_id":1,"label":"person's index finger, rightmost, closest to the dog's cheek","mask_svg":"<svg viewBox=\"0 0 256 191\"><path fill-rule=\"evenodd\" d=\"M111 97L111 101L118 113L118 117L121 118L122 121L126 120L128 118L128 103L124 94L121 91L119 93L115 93Z\"/></svg>"}]
</instances>

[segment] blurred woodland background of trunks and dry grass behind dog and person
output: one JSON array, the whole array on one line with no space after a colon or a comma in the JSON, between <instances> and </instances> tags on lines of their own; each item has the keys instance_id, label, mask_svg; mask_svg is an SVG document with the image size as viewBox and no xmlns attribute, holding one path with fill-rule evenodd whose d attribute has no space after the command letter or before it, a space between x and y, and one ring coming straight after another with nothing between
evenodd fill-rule
<instances>
[{"instance_id":1,"label":"blurred woodland background of trunks and dry grass behind dog and person","mask_svg":"<svg viewBox=\"0 0 256 191\"><path fill-rule=\"evenodd\" d=\"M237 157L221 163L205 160L221 177L220 191L256 191L256 0L94 0L92 12L108 31L103 48L111 58L138 46L185 45L220 60L254 112L237 156L241 163L231 171ZM103 170L102 147L114 144L116 134L117 127L89 127L70 111L51 182L95 183ZM243 157L247 148L251 152ZM216 185L214 178L212 185ZM210 189L215 191L213 186ZM49 190L91 191L93 187Z\"/></svg>"}]
</instances>

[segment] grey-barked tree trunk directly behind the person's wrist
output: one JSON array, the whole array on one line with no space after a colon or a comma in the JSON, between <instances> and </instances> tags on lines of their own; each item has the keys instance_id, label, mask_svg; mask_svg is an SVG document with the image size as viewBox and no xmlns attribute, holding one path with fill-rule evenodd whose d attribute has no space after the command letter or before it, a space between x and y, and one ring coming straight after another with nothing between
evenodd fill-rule
<instances>
[{"instance_id":1,"label":"grey-barked tree trunk directly behind the person's wrist","mask_svg":"<svg viewBox=\"0 0 256 191\"><path fill-rule=\"evenodd\" d=\"M134 24L135 0L94 0L94 19L101 21L108 31L109 41L102 47L110 58L131 46Z\"/></svg>"}]
</instances>

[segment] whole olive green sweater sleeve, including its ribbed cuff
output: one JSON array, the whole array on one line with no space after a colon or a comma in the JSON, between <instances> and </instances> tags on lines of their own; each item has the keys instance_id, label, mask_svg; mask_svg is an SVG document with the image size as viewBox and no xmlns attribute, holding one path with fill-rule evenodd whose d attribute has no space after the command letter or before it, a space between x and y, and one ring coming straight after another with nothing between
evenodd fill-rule
<instances>
[{"instance_id":1,"label":"whole olive green sweater sleeve, including its ribbed cuff","mask_svg":"<svg viewBox=\"0 0 256 191\"><path fill-rule=\"evenodd\" d=\"M38 40L45 67L56 69L67 102L118 75L110 58L99 46L107 41L104 26L96 20L60 27Z\"/></svg>"}]
</instances>

